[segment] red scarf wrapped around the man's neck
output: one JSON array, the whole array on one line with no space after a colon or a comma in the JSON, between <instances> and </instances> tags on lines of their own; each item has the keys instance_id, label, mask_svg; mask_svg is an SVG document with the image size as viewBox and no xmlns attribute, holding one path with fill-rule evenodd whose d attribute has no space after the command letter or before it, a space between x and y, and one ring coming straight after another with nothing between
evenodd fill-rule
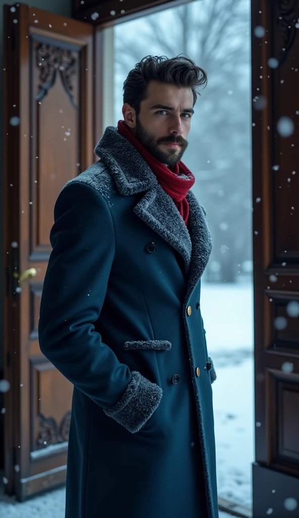
<instances>
[{"instance_id":1,"label":"red scarf wrapped around the man's neck","mask_svg":"<svg viewBox=\"0 0 299 518\"><path fill-rule=\"evenodd\" d=\"M166 165L162 164L162 162L157 160L154 155L150 153L150 151L147 151L140 140L138 140L138 138L136 138L130 132L125 121L118 121L117 131L120 135L126 137L146 160L147 164L151 167L152 171L156 175L158 183L165 190L165 192L172 197L188 228L189 204L186 200L186 195L195 182L195 176L182 161L178 162L171 168L168 168ZM189 176L190 179L186 180L185 178L180 178L178 176L180 172L183 172L184 175Z\"/></svg>"}]
</instances>

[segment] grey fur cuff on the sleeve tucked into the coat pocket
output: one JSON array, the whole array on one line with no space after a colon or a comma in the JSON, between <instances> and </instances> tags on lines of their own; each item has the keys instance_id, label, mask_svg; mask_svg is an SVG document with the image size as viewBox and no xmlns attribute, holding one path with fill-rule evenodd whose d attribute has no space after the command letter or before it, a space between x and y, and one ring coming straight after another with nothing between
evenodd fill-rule
<instances>
[{"instance_id":1,"label":"grey fur cuff on the sleeve tucked into the coat pocket","mask_svg":"<svg viewBox=\"0 0 299 518\"><path fill-rule=\"evenodd\" d=\"M150 419L159 406L162 394L159 385L133 370L132 379L121 399L103 411L134 434Z\"/></svg>"}]
</instances>

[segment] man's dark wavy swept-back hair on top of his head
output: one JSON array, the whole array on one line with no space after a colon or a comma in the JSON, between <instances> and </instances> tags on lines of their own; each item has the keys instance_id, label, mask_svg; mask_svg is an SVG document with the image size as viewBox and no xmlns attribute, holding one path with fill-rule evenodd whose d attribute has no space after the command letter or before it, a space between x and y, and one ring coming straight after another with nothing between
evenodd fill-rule
<instances>
[{"instance_id":1,"label":"man's dark wavy swept-back hair on top of his head","mask_svg":"<svg viewBox=\"0 0 299 518\"><path fill-rule=\"evenodd\" d=\"M147 85L150 81L189 87L193 93L193 107L197 101L197 87L207 84L206 72L197 66L190 57L145 56L129 71L124 82L124 104L135 109L137 116L140 103L147 98Z\"/></svg>"}]
</instances>

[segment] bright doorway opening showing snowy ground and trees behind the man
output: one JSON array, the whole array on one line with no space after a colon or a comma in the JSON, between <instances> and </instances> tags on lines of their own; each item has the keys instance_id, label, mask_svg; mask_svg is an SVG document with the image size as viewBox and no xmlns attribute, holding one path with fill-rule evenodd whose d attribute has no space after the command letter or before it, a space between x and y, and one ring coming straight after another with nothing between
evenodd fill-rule
<instances>
[{"instance_id":1,"label":"bright doorway opening showing snowy ground and trees behind the man","mask_svg":"<svg viewBox=\"0 0 299 518\"><path fill-rule=\"evenodd\" d=\"M227 2L195 0L105 28L103 130L123 119L124 80L149 54L188 55L208 76L182 160L196 177L192 190L207 211L213 239L201 309L218 377L212 387L220 509L229 502L232 511L235 504L250 516L255 461L250 0L230 9Z\"/></svg>"}]
</instances>

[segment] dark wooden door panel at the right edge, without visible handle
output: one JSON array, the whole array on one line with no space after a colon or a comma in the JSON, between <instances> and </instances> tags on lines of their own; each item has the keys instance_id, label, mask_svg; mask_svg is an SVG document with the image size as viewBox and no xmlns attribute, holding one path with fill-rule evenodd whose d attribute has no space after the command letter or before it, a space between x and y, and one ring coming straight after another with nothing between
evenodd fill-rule
<instances>
[{"instance_id":1,"label":"dark wooden door panel at the right edge, without visible handle","mask_svg":"<svg viewBox=\"0 0 299 518\"><path fill-rule=\"evenodd\" d=\"M253 516L299 516L299 1L252 0Z\"/></svg>"}]
</instances>

